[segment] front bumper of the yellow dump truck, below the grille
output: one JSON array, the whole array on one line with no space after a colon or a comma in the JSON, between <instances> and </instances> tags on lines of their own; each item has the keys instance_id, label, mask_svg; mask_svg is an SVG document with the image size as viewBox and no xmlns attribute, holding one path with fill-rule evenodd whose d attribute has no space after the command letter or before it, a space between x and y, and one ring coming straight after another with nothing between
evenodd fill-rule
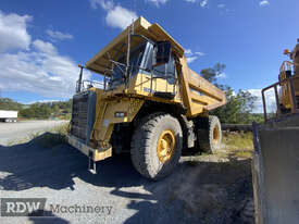
<instances>
[{"instance_id":1,"label":"front bumper of the yellow dump truck, below the grille","mask_svg":"<svg viewBox=\"0 0 299 224\"><path fill-rule=\"evenodd\" d=\"M84 144L79 138L76 138L73 135L67 135L67 142L87 155L89 159L94 160L95 162L104 160L112 155L112 147L109 148L97 148L94 149L86 144Z\"/></svg>"}]
</instances>

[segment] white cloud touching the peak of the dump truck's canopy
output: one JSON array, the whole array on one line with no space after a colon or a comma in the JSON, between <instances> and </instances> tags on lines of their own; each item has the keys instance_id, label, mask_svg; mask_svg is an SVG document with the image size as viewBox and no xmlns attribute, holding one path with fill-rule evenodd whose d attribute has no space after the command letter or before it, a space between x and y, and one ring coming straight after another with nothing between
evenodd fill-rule
<instances>
[{"instance_id":1,"label":"white cloud touching the peak of the dump truck's canopy","mask_svg":"<svg viewBox=\"0 0 299 224\"><path fill-rule=\"evenodd\" d=\"M138 16L135 12L121 7L115 5L112 0L90 0L92 9L101 7L105 12L105 23L111 27L126 28Z\"/></svg>"}]
</instances>

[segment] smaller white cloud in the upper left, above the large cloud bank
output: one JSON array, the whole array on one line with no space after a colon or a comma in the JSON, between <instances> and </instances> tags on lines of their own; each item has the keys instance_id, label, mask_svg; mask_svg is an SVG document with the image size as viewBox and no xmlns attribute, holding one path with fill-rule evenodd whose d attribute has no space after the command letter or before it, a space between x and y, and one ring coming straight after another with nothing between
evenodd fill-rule
<instances>
[{"instance_id":1,"label":"smaller white cloud in the upper left, above the large cloud bank","mask_svg":"<svg viewBox=\"0 0 299 224\"><path fill-rule=\"evenodd\" d=\"M30 21L29 15L5 14L0 11L0 52L28 49L32 37L26 28Z\"/></svg>"}]
</instances>

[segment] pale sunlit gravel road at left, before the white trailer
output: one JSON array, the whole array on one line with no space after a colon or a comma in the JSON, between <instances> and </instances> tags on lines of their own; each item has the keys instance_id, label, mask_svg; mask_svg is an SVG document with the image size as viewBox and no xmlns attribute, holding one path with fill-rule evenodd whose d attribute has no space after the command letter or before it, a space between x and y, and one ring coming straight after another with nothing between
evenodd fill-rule
<instances>
[{"instance_id":1,"label":"pale sunlit gravel road at left, before the white trailer","mask_svg":"<svg viewBox=\"0 0 299 224\"><path fill-rule=\"evenodd\" d=\"M62 123L65 123L65 121L24 121L17 123L0 122L0 145L7 145L9 141L17 138L24 138L30 133L45 132Z\"/></svg>"}]
</instances>

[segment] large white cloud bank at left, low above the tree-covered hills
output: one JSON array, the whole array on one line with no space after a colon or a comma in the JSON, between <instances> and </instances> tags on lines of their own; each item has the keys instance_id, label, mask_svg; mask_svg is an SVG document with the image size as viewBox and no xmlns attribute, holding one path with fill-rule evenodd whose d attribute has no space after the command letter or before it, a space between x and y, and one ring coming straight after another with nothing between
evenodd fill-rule
<instances>
[{"instance_id":1,"label":"large white cloud bank at left, low above the tree-covered hills","mask_svg":"<svg viewBox=\"0 0 299 224\"><path fill-rule=\"evenodd\" d=\"M75 91L78 67L50 42L35 40L34 50L5 53L0 58L0 76L7 91L30 91L43 97L70 98Z\"/></svg>"}]
</instances>

